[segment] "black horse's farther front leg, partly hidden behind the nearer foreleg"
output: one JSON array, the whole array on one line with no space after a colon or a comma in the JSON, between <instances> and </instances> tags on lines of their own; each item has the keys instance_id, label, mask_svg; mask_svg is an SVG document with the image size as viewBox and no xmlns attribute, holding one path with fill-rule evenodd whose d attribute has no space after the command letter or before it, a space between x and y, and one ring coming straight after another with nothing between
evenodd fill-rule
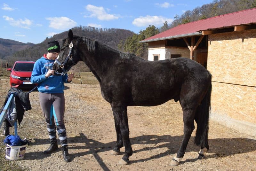
<instances>
[{"instance_id":1,"label":"black horse's farther front leg, partly hidden behind the nearer foreleg","mask_svg":"<svg viewBox=\"0 0 256 171\"><path fill-rule=\"evenodd\" d=\"M122 134L121 134L119 121L116 118L115 114L114 114L114 119L115 119L115 128L116 128L116 144L113 147L113 150L110 152L110 154L115 156L115 155L119 154L120 148L123 147L123 137L122 137Z\"/></svg>"}]
</instances>

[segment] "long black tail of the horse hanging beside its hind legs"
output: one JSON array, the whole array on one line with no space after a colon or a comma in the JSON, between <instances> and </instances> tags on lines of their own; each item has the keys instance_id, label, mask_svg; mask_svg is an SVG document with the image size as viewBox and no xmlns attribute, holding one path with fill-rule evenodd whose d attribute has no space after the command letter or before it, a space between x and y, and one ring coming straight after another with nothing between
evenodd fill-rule
<instances>
[{"instance_id":1,"label":"long black tail of the horse hanging beside its hind legs","mask_svg":"<svg viewBox=\"0 0 256 171\"><path fill-rule=\"evenodd\" d=\"M209 73L210 74L210 73ZM210 74L211 78L211 74ZM196 137L195 144L205 147L206 141L208 140L208 130L209 130L209 118L211 110L211 93L212 93L212 79L210 79L209 88L201 101L200 105L196 109Z\"/></svg>"}]
</instances>

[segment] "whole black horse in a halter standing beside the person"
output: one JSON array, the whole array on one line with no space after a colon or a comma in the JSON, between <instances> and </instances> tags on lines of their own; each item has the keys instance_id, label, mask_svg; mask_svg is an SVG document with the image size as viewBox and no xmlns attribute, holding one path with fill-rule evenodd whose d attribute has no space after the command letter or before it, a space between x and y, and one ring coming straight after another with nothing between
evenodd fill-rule
<instances>
[{"instance_id":1,"label":"whole black horse in a halter standing beside the person","mask_svg":"<svg viewBox=\"0 0 256 171\"><path fill-rule=\"evenodd\" d=\"M84 61L91 69L100 82L102 97L112 107L117 136L112 155L117 155L123 144L125 147L119 164L128 164L132 155L127 106L155 106L171 99L180 101L184 122L184 138L171 165L180 164L195 129L194 120L197 123L195 144L201 146L198 159L204 158L204 152L209 149L212 76L203 66L188 58L144 60L98 41L73 36L69 30L53 67L56 73L63 74L78 61Z\"/></svg>"}]
</instances>

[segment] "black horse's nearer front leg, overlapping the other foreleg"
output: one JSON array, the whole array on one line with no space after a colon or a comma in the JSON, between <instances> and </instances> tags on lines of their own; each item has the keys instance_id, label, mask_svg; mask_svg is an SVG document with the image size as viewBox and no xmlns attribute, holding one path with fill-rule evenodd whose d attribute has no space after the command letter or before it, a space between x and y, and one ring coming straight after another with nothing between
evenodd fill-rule
<instances>
[{"instance_id":1,"label":"black horse's nearer front leg, overlapping the other foreleg","mask_svg":"<svg viewBox=\"0 0 256 171\"><path fill-rule=\"evenodd\" d=\"M129 157L132 155L132 146L129 138L129 126L127 117L127 106L111 104L116 124L119 125L121 137L124 141L124 156L119 160L119 164L127 165L130 163ZM117 134L117 133L116 133Z\"/></svg>"}]
</instances>

